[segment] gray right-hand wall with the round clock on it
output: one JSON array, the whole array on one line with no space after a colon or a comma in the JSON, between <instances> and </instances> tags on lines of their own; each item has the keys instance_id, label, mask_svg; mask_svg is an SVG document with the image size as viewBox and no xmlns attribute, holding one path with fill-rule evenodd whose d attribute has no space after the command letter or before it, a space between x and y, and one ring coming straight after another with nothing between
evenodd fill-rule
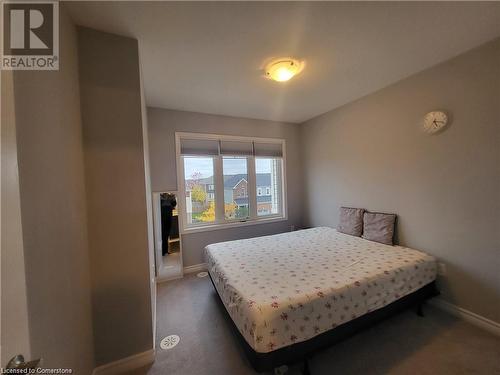
<instances>
[{"instance_id":1,"label":"gray right-hand wall with the round clock on it","mask_svg":"<svg viewBox=\"0 0 500 375\"><path fill-rule=\"evenodd\" d=\"M401 244L447 264L443 297L500 322L500 40L302 125L307 222L342 205L399 215ZM421 131L428 111L448 129Z\"/></svg>"}]
</instances>

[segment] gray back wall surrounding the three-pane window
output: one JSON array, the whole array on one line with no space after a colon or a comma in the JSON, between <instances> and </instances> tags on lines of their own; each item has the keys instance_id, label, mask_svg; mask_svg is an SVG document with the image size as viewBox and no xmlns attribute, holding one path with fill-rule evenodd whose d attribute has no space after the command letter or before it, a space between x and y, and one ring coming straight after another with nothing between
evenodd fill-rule
<instances>
[{"instance_id":1,"label":"gray back wall surrounding the three-pane window","mask_svg":"<svg viewBox=\"0 0 500 375\"><path fill-rule=\"evenodd\" d=\"M296 124L252 120L202 113L148 108L149 155L153 191L177 187L175 132L212 133L286 140L288 220L183 235L184 266L203 263L203 248L214 242L274 234L302 223L301 142Z\"/></svg>"}]
</instances>

